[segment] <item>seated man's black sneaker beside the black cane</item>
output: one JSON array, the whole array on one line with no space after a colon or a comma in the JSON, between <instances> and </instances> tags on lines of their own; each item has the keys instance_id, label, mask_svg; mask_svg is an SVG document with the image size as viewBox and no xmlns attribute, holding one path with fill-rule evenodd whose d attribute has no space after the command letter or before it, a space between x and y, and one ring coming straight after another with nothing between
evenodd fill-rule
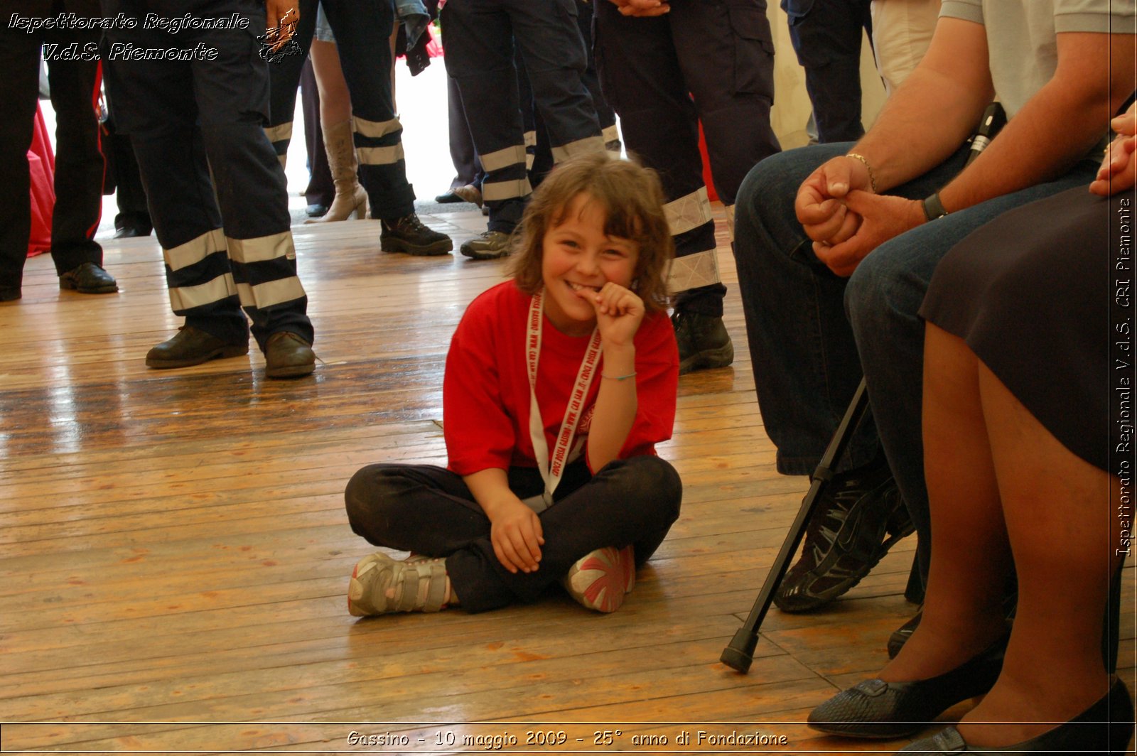
<instances>
[{"instance_id":1,"label":"seated man's black sneaker beside the black cane","mask_svg":"<svg viewBox=\"0 0 1137 756\"><path fill-rule=\"evenodd\" d=\"M833 475L806 525L802 556L787 571L774 604L782 612L824 606L861 582L913 530L887 464Z\"/></svg>"}]
</instances>

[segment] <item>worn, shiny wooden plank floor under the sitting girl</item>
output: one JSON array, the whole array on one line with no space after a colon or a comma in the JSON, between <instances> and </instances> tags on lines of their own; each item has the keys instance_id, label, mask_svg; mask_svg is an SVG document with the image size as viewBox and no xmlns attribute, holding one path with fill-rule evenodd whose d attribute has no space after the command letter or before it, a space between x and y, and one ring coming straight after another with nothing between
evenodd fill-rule
<instances>
[{"instance_id":1,"label":"worn, shiny wooden plank floor under the sitting girl","mask_svg":"<svg viewBox=\"0 0 1137 756\"><path fill-rule=\"evenodd\" d=\"M456 241L484 227L476 213L424 219ZM293 382L265 380L259 354L146 368L179 324L152 239L106 243L117 296L60 292L50 260L28 260L23 301L0 306L3 753L517 751L547 731L554 746L532 734L533 750L908 742L802 722L886 661L912 612L913 539L830 610L772 612L749 674L717 662L805 489L774 472L722 239L737 360L680 381L661 454L682 475L682 516L624 607L592 614L550 591L480 615L349 616L347 576L370 547L347 526L343 485L367 463L445 463L449 335L504 275L501 261L382 255L377 233L296 229L322 363ZM1132 687L1131 570L1124 595ZM787 742L714 740L732 731Z\"/></svg>"}]
</instances>

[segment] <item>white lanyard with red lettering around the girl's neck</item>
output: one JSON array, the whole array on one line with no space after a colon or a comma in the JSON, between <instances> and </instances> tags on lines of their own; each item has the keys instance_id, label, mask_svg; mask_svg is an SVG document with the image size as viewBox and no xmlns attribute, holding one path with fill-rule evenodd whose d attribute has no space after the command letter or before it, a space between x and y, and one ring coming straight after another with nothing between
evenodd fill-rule
<instances>
[{"instance_id":1,"label":"white lanyard with red lettering around the girl's neck","mask_svg":"<svg viewBox=\"0 0 1137 756\"><path fill-rule=\"evenodd\" d=\"M543 323L542 294L543 291L533 294L529 305L529 327L525 338L525 364L529 368L529 437L533 442L537 468L541 473L541 480L545 481L545 492L541 496L524 499L524 502L536 512L542 512L553 506L553 492L561 483L565 466L580 454L580 447L573 449L571 454L568 449L576 434L576 424L583 414L588 389L592 385L592 377L596 375L596 364L600 359L600 331L594 329L588 349L584 350L584 359L580 363L580 371L576 372L576 382L572 393L568 394L565 416L561 421L561 430L557 433L557 442L553 448L553 459L550 460L549 445L545 440L545 421L541 418L541 408L537 404L537 362L541 352L541 326Z\"/></svg>"}]
</instances>

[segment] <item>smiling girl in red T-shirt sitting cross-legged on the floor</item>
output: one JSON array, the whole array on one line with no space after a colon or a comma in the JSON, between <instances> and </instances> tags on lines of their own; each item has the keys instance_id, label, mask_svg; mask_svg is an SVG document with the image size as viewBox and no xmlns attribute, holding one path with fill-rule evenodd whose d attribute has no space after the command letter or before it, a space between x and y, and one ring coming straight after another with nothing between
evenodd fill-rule
<instances>
[{"instance_id":1,"label":"smiling girl in red T-shirt sitting cross-legged on the floor","mask_svg":"<svg viewBox=\"0 0 1137 756\"><path fill-rule=\"evenodd\" d=\"M450 342L449 464L371 465L348 483L351 529L414 554L364 557L351 614L481 612L557 581L590 609L620 607L682 495L655 455L679 381L672 254L649 171L599 153L545 180L513 279L471 302Z\"/></svg>"}]
</instances>

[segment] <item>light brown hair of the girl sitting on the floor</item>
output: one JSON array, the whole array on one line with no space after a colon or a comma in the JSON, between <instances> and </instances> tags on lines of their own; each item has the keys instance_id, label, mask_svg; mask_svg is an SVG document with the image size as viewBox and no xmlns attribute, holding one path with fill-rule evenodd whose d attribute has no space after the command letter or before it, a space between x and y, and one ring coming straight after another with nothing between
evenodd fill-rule
<instances>
[{"instance_id":1,"label":"light brown hair of the girl sitting on the floor","mask_svg":"<svg viewBox=\"0 0 1137 756\"><path fill-rule=\"evenodd\" d=\"M581 193L604 210L604 233L639 246L631 289L645 309L665 309L667 264L675 246L663 210L663 188L654 171L607 152L565 160L533 192L513 240L509 273L517 288L530 294L541 290L541 242L550 229L564 223L573 198Z\"/></svg>"}]
</instances>

